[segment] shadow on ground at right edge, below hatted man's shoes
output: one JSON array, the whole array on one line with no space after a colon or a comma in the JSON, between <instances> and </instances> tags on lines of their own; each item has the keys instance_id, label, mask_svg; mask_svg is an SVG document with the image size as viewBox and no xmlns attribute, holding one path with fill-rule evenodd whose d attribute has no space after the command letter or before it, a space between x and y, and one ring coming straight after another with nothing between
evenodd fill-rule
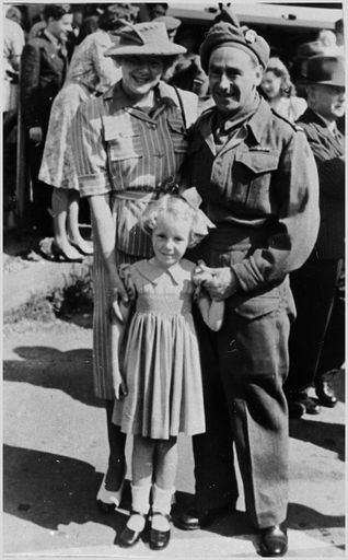
<instances>
[{"instance_id":1,"label":"shadow on ground at right edge, below hatted man's shoes","mask_svg":"<svg viewBox=\"0 0 348 560\"><path fill-rule=\"evenodd\" d=\"M291 420L289 433L290 438L336 452L338 458L345 460L344 424L326 423L317 420Z\"/></svg>"}]
</instances>

